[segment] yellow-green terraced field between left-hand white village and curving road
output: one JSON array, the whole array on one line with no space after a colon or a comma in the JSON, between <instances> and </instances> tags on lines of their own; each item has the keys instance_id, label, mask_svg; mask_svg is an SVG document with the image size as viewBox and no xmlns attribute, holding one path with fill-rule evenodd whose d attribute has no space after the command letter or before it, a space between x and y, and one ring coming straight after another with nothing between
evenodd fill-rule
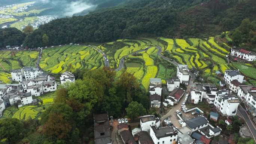
<instances>
[{"instance_id":1,"label":"yellow-green terraced field between left-hand white village and curving road","mask_svg":"<svg viewBox=\"0 0 256 144\"><path fill-rule=\"evenodd\" d=\"M76 69L103 67L103 56L93 48L68 45L43 49L39 65L53 74L74 72Z\"/></svg>"}]
</instances>

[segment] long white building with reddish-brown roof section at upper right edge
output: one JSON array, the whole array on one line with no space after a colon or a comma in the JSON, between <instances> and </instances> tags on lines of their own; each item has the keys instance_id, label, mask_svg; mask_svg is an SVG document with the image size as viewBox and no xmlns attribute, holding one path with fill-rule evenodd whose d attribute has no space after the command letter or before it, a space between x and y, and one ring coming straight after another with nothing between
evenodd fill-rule
<instances>
[{"instance_id":1,"label":"long white building with reddish-brown roof section at upper right edge","mask_svg":"<svg viewBox=\"0 0 256 144\"><path fill-rule=\"evenodd\" d=\"M248 50L245 50L245 49L241 49L241 48L238 48L236 46L234 46L231 49L230 55L235 56L237 58L244 59L246 61L256 61L256 53L255 52L251 52L251 51L248 51Z\"/></svg>"}]
</instances>

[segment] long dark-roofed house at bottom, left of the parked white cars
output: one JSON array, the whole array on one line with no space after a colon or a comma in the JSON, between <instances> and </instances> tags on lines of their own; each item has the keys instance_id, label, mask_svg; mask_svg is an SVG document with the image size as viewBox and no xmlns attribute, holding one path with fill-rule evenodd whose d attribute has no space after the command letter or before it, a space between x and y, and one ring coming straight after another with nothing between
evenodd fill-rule
<instances>
[{"instance_id":1,"label":"long dark-roofed house at bottom, left of the parked white cars","mask_svg":"<svg viewBox=\"0 0 256 144\"><path fill-rule=\"evenodd\" d=\"M94 114L93 117L94 144L112 144L108 114Z\"/></svg>"}]
</instances>

